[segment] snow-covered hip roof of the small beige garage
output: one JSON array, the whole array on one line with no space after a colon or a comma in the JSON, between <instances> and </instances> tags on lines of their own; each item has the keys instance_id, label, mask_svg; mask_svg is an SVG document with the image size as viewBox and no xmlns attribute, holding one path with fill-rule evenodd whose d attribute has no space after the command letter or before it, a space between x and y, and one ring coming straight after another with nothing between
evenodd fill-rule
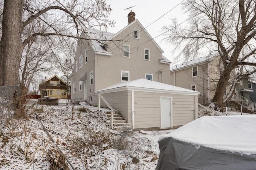
<instances>
[{"instance_id":1,"label":"snow-covered hip roof of the small beige garage","mask_svg":"<svg viewBox=\"0 0 256 170\"><path fill-rule=\"evenodd\" d=\"M184 89L182 87L177 87L173 85L168 85L164 83L159 83L156 81L146 80L146 79L137 79L133 81L127 81L123 83L118 83L116 85L112 85L110 87L107 87L105 89L101 89L99 91L96 91L96 93L102 92L102 91L108 91L111 89L118 89L122 87L130 87L135 89L154 89L154 90L163 90L163 91L169 91L169 92L176 92L176 93L189 93L192 95L198 95L198 91L193 91L190 89Z\"/></svg>"}]
</instances>

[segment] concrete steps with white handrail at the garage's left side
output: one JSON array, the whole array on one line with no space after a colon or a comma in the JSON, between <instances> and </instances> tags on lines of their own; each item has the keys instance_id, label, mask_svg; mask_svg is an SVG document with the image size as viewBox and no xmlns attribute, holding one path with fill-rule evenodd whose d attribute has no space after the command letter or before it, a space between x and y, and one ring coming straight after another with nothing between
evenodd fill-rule
<instances>
[{"instance_id":1,"label":"concrete steps with white handrail at the garage's left side","mask_svg":"<svg viewBox=\"0 0 256 170\"><path fill-rule=\"evenodd\" d=\"M110 118L111 117L111 111L104 111L106 115ZM115 130L129 130L132 129L129 123L122 117L122 115L119 113L119 111L115 110L113 115L113 125Z\"/></svg>"}]
</instances>

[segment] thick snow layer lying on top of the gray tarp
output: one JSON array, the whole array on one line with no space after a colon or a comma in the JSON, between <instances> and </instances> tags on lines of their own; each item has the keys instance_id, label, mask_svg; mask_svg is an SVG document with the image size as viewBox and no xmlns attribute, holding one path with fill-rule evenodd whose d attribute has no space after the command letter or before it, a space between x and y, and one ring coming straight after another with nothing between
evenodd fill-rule
<instances>
[{"instance_id":1,"label":"thick snow layer lying on top of the gray tarp","mask_svg":"<svg viewBox=\"0 0 256 170\"><path fill-rule=\"evenodd\" d=\"M172 137L197 148L204 146L250 155L256 154L255 125L256 115L204 116L160 136L159 140Z\"/></svg>"}]
</instances>

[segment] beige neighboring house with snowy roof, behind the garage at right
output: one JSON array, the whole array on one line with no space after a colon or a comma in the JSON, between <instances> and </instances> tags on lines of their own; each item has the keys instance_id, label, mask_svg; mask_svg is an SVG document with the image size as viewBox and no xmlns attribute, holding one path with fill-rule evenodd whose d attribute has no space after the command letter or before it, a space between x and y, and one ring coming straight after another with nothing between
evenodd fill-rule
<instances>
[{"instance_id":1,"label":"beige neighboring house with snowy roof, behind the garage at right","mask_svg":"<svg viewBox=\"0 0 256 170\"><path fill-rule=\"evenodd\" d=\"M207 56L172 65L170 67L170 85L199 91L198 103L208 105L214 97L223 68L220 63L220 57ZM229 85L226 87L226 91L228 90ZM224 95L226 95L225 92Z\"/></svg>"}]
</instances>

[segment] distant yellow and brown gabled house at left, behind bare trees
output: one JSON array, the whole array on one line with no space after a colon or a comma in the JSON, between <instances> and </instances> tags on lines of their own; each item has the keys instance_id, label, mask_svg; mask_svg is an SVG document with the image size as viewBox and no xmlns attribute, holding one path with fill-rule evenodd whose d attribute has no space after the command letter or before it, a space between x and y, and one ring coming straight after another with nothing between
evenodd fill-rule
<instances>
[{"instance_id":1,"label":"distant yellow and brown gabled house at left, behind bare trees","mask_svg":"<svg viewBox=\"0 0 256 170\"><path fill-rule=\"evenodd\" d=\"M60 77L54 75L49 79L44 79L39 85L41 96L56 97L61 99L68 99L68 85Z\"/></svg>"}]
</instances>

